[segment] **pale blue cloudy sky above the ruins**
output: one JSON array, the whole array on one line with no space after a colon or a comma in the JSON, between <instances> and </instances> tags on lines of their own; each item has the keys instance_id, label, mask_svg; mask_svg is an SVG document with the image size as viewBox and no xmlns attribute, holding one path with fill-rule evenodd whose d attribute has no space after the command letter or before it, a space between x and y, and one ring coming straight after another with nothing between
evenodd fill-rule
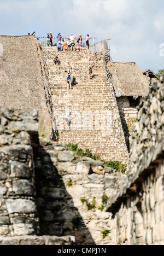
<instances>
[{"instance_id":1,"label":"pale blue cloudy sky above the ruins","mask_svg":"<svg viewBox=\"0 0 164 256\"><path fill-rule=\"evenodd\" d=\"M0 14L1 35L89 33L111 39L114 61L136 62L142 71L164 68L163 0L0 0Z\"/></svg>"}]
</instances>

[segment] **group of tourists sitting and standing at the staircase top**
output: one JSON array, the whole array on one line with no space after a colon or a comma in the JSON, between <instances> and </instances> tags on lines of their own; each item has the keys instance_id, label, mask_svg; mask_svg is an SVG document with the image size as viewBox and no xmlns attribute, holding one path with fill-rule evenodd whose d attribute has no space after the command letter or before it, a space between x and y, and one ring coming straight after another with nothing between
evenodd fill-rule
<instances>
[{"instance_id":1,"label":"group of tourists sitting and standing at the staircase top","mask_svg":"<svg viewBox=\"0 0 164 256\"><path fill-rule=\"evenodd\" d=\"M66 42L65 39L62 38L61 33L58 33L57 35L57 50L58 51L82 51L82 47L83 47L83 39L81 37L81 35L78 37L77 43L74 43L75 40L75 36L73 35L73 33L71 33L71 36L69 37L68 41ZM86 46L85 48L90 48L89 45L89 34L87 34L86 38L85 38L85 43ZM53 46L53 37L52 37L52 32L49 34L47 33L46 36L46 46Z\"/></svg>"}]
</instances>

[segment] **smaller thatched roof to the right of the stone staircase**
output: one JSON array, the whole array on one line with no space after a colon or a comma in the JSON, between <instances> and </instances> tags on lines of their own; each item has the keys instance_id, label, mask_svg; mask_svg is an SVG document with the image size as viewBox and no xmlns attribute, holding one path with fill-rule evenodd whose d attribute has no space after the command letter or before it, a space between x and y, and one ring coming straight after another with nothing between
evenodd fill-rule
<instances>
[{"instance_id":1,"label":"smaller thatched roof to the right of the stone staircase","mask_svg":"<svg viewBox=\"0 0 164 256\"><path fill-rule=\"evenodd\" d=\"M145 97L149 92L149 83L134 62L107 63L115 90L122 96Z\"/></svg>"}]
</instances>

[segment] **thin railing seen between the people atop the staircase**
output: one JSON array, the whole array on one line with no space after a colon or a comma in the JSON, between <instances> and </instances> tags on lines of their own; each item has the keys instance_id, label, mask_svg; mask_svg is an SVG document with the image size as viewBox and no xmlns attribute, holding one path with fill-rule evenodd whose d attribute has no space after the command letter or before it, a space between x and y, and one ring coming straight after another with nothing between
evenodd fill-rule
<instances>
[{"instance_id":1,"label":"thin railing seen between the people atop the staircase","mask_svg":"<svg viewBox=\"0 0 164 256\"><path fill-rule=\"evenodd\" d=\"M46 37L36 37L39 39L39 43L42 45L42 46L47 46L47 43L46 43ZM62 39L65 40L65 42L67 43L69 37L62 37ZM90 38L89 40L89 44L90 44L90 50L94 50L94 45L95 45L95 39L96 38ZM76 44L77 43L77 40L78 38L75 38L74 39L74 43ZM53 46L56 46L57 45L57 37L53 37L52 38L52 44ZM50 44L51 46L51 44ZM85 42L85 38L82 38L82 47L85 48L86 47L86 42Z\"/></svg>"}]
</instances>

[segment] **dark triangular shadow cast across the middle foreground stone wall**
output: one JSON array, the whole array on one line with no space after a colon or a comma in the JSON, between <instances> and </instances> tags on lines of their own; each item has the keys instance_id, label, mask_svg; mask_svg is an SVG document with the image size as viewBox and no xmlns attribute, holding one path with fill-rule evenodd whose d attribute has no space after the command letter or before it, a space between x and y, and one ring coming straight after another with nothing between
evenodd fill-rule
<instances>
[{"instance_id":1,"label":"dark triangular shadow cast across the middle foreground stone wall","mask_svg":"<svg viewBox=\"0 0 164 256\"><path fill-rule=\"evenodd\" d=\"M62 172L56 168L56 153L51 147L40 146L40 153L34 155L40 235L72 235L75 245L95 245L67 192Z\"/></svg>"}]
</instances>

